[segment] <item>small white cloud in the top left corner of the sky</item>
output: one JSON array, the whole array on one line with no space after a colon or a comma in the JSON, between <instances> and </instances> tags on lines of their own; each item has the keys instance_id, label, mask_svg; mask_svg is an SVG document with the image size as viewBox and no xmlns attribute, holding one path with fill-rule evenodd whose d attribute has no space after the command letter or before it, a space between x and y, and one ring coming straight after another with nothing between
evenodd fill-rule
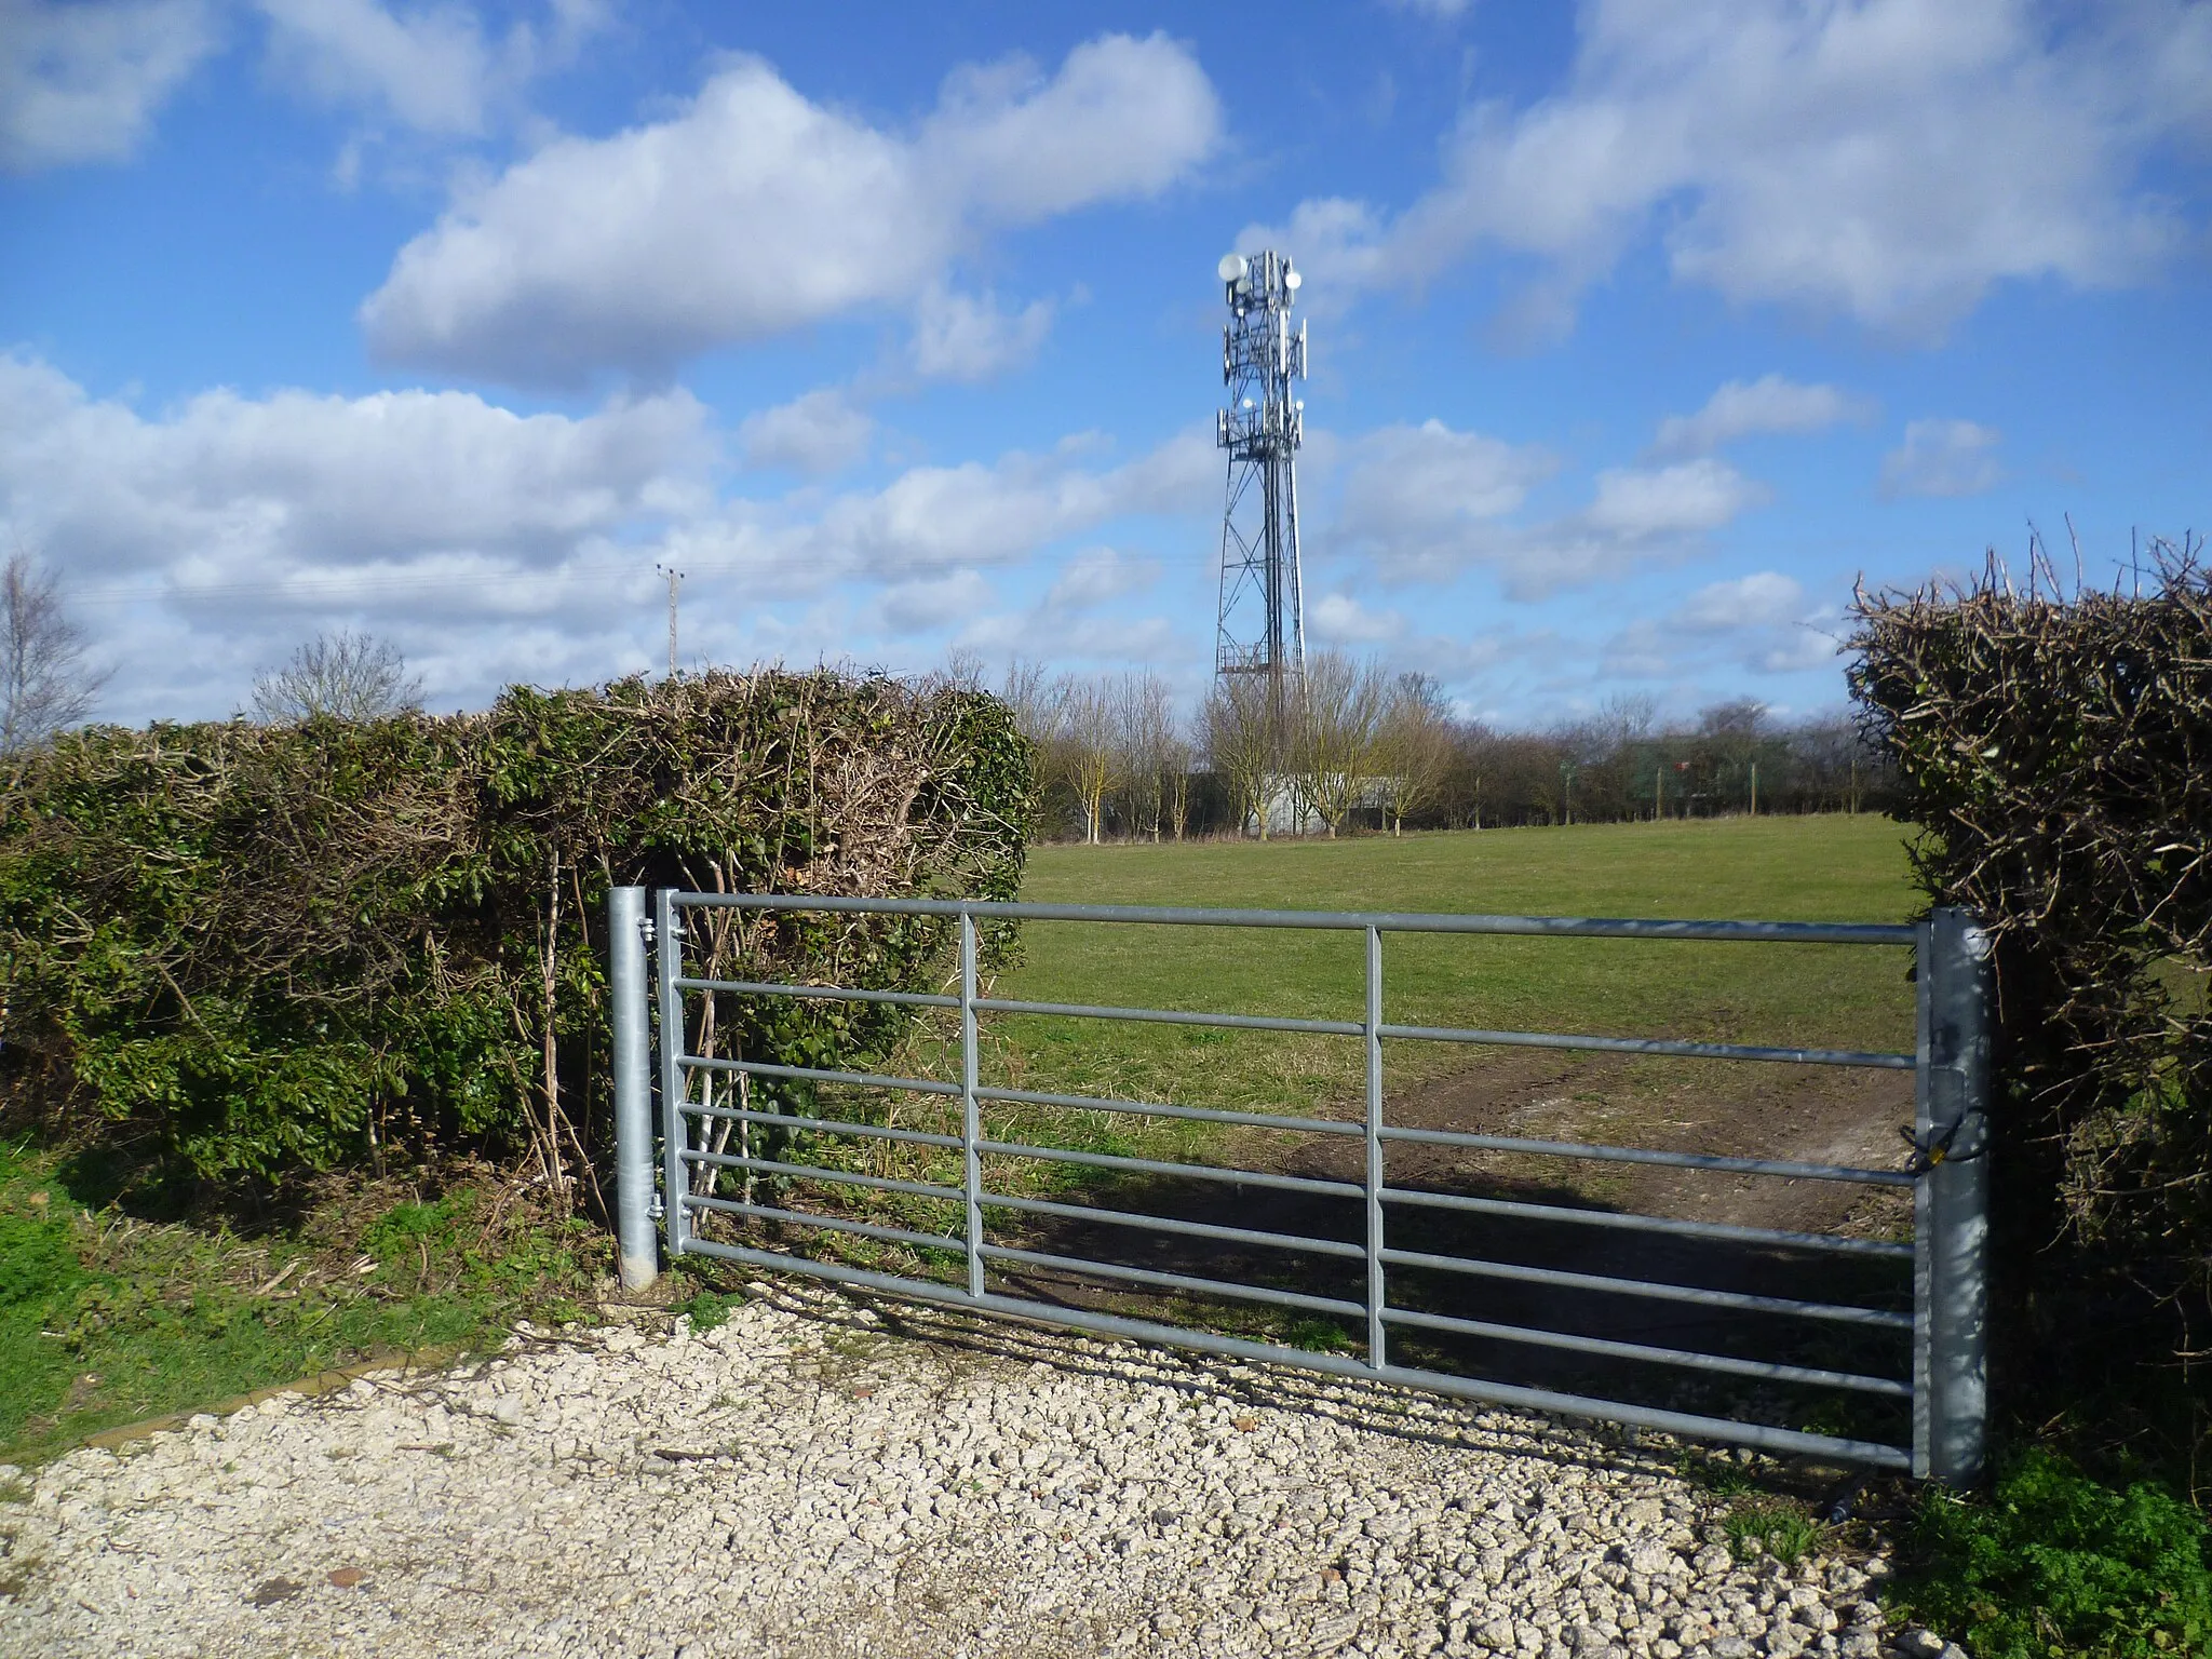
<instances>
[{"instance_id":1,"label":"small white cloud in the top left corner of the sky","mask_svg":"<svg viewBox=\"0 0 2212 1659\"><path fill-rule=\"evenodd\" d=\"M0 168L126 159L215 44L206 0L0 0Z\"/></svg>"}]
</instances>

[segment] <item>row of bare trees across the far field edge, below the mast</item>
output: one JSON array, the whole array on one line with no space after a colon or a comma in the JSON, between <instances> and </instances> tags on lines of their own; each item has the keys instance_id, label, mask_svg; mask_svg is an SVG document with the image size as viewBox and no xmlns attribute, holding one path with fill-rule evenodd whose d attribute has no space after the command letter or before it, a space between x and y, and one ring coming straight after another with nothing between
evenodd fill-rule
<instances>
[{"instance_id":1,"label":"row of bare trees across the far field edge, below the mast","mask_svg":"<svg viewBox=\"0 0 2212 1659\"><path fill-rule=\"evenodd\" d=\"M945 672L980 684L980 664ZM1256 677L1217 681L1190 721L1150 670L1015 664L1002 695L1044 763L1046 832L1079 841L1863 812L1893 790L1847 714L1785 723L1739 699L1661 723L1652 699L1615 697L1502 732L1455 719L1429 675L1340 653L1307 659L1281 714Z\"/></svg>"}]
</instances>

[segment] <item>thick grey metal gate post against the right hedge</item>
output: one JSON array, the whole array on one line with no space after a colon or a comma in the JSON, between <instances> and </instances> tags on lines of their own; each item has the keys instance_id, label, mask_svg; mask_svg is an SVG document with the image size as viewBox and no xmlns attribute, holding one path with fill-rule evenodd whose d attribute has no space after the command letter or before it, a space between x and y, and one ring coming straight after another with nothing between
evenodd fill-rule
<instances>
[{"instance_id":1,"label":"thick grey metal gate post against the right hedge","mask_svg":"<svg viewBox=\"0 0 2212 1659\"><path fill-rule=\"evenodd\" d=\"M1989 1093L1991 940L1973 916L1929 916L1924 1082L1913 1135L1920 1177L1916 1237L1924 1263L1927 1356L1916 1378L1916 1473L1953 1486L1982 1473L1989 1425Z\"/></svg>"}]
</instances>

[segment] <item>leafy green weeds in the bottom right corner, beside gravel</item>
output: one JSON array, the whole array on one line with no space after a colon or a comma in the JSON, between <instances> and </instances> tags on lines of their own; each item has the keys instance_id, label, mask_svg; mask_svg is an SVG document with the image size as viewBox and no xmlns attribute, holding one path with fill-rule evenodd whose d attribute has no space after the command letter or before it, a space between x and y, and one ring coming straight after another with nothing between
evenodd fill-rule
<instances>
[{"instance_id":1,"label":"leafy green weeds in the bottom right corner, beside gravel","mask_svg":"<svg viewBox=\"0 0 2212 1659\"><path fill-rule=\"evenodd\" d=\"M2033 1449L1986 1498L1931 1486L1905 1544L1898 1608L1978 1659L2212 1652L2212 1535L2157 1482L2104 1484Z\"/></svg>"}]
</instances>

